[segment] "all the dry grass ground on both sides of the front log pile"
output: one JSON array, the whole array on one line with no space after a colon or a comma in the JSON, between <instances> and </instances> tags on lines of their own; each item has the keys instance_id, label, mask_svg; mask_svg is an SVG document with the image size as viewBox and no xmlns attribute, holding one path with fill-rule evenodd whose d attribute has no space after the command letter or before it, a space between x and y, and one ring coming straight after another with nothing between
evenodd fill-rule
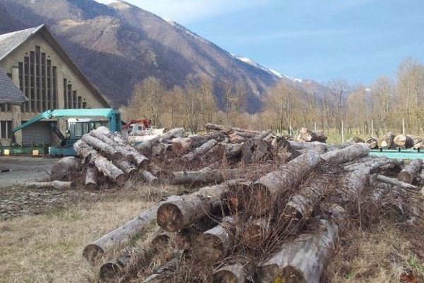
<instances>
[{"instance_id":1,"label":"all the dry grass ground on both sides of the front log pile","mask_svg":"<svg viewBox=\"0 0 424 283\"><path fill-rule=\"evenodd\" d=\"M0 221L0 282L98 282L100 265L90 267L81 256L86 243L124 224L163 195L178 191L129 187L96 202ZM141 246L154 229L146 229L134 245ZM369 231L354 230L341 238L325 282L397 283L401 270L411 270L424 280L422 235L422 230L405 231L389 222ZM115 250L104 260L118 254Z\"/></svg>"}]
</instances>

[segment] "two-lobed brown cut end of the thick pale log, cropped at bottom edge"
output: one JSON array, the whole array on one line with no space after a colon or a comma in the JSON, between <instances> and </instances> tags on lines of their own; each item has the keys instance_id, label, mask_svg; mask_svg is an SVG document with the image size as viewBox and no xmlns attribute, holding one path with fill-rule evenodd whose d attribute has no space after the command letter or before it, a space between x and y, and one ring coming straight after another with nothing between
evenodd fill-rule
<instances>
[{"instance_id":1,"label":"two-lobed brown cut end of the thick pale log, cropped at bottom edge","mask_svg":"<svg viewBox=\"0 0 424 283\"><path fill-rule=\"evenodd\" d=\"M260 283L308 283L301 272L293 267L278 265L266 265L259 271L258 282Z\"/></svg>"}]
</instances>

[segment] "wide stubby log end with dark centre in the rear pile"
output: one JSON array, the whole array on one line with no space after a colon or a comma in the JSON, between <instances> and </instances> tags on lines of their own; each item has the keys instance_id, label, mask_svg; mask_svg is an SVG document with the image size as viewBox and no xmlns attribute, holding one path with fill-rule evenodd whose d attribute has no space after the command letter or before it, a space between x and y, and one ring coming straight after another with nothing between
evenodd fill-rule
<instances>
[{"instance_id":1,"label":"wide stubby log end with dark centre in the rear pile","mask_svg":"<svg viewBox=\"0 0 424 283\"><path fill-rule=\"evenodd\" d=\"M242 145L242 161L254 163L271 157L271 144L262 139L251 139Z\"/></svg>"}]
</instances>

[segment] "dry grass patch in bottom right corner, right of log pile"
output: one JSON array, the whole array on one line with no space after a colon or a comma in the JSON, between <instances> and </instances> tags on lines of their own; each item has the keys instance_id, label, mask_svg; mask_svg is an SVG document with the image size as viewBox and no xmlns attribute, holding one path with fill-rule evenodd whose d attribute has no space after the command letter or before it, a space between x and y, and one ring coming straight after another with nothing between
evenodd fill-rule
<instances>
[{"instance_id":1,"label":"dry grass patch in bottom right corner, right of log pile","mask_svg":"<svg viewBox=\"0 0 424 283\"><path fill-rule=\"evenodd\" d=\"M410 231L388 221L370 231L354 229L341 239L324 282L398 283L404 272L424 282L424 261L417 248Z\"/></svg>"}]
</instances>

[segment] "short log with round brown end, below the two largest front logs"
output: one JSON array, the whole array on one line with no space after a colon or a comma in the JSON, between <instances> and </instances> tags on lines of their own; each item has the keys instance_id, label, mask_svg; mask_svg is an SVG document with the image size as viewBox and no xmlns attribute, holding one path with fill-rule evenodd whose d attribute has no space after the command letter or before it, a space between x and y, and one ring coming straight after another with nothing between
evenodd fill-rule
<instances>
[{"instance_id":1,"label":"short log with round brown end, below the two largest front logs","mask_svg":"<svg viewBox=\"0 0 424 283\"><path fill-rule=\"evenodd\" d=\"M235 221L225 217L223 223L196 238L193 253L199 260L214 263L222 260L234 247Z\"/></svg>"}]
</instances>

